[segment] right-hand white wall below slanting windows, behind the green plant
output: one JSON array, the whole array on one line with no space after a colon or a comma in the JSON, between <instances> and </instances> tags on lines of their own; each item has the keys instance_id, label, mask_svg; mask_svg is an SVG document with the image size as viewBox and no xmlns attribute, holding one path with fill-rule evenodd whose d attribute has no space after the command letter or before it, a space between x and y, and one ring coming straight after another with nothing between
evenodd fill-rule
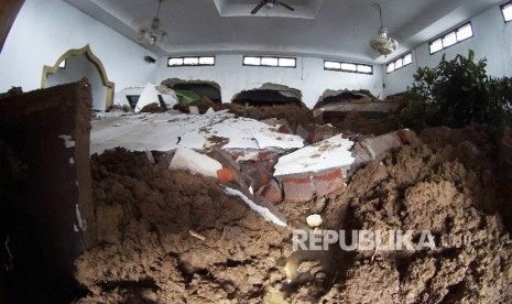
<instances>
[{"instance_id":1,"label":"right-hand white wall below slanting windows, behind the green plant","mask_svg":"<svg viewBox=\"0 0 512 304\"><path fill-rule=\"evenodd\" d=\"M413 74L420 66L435 67L444 53L451 59L457 54L468 55L475 51L475 58L487 57L488 75L512 76L512 22L504 23L499 6L492 7L471 19L475 36L442 52L429 54L428 43L413 50L413 64L384 76L385 95L406 90L414 82ZM439 33L443 34L443 33Z\"/></svg>"}]
</instances>

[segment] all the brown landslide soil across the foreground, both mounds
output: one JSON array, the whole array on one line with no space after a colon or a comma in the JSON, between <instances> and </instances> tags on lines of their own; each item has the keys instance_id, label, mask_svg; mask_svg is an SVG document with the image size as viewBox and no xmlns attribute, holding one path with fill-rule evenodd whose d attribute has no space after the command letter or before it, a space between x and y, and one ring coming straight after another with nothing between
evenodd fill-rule
<instances>
[{"instance_id":1,"label":"all the brown landslide soil across the foreground, both mounds","mask_svg":"<svg viewBox=\"0 0 512 304\"><path fill-rule=\"evenodd\" d=\"M512 303L512 241L500 216L511 199L495 174L494 142L483 127L427 129L355 172L317 210L324 228L411 229L416 242L428 229L436 248L334 246L298 258L293 284L283 283L290 230L226 196L215 180L170 172L142 153L94 156L101 246L76 261L90 291L78 303ZM317 205L279 207L304 227ZM470 240L444 246L446 235Z\"/></svg>"}]
</instances>

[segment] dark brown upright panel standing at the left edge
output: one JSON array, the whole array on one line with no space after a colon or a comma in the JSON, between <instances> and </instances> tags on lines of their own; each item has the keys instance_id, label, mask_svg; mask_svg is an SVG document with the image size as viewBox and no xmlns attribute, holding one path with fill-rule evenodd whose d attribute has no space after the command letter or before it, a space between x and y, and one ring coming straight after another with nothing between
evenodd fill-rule
<instances>
[{"instance_id":1,"label":"dark brown upright panel standing at the left edge","mask_svg":"<svg viewBox=\"0 0 512 304\"><path fill-rule=\"evenodd\" d=\"M74 260L96 245L90 107L87 79L0 99L0 228L13 276L42 275L17 273L35 261L39 280L73 285Z\"/></svg>"}]
</instances>

